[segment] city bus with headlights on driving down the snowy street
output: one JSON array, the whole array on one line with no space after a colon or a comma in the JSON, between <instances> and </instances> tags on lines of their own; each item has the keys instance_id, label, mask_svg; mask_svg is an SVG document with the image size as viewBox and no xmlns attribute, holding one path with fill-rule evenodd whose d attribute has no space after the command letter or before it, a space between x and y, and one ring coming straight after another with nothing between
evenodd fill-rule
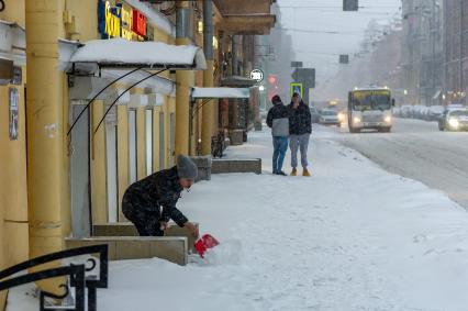
<instances>
[{"instance_id":1,"label":"city bus with headlights on driving down the snowy street","mask_svg":"<svg viewBox=\"0 0 468 311\"><path fill-rule=\"evenodd\" d=\"M349 132L367 129L390 132L393 107L394 99L388 88L355 88L348 93Z\"/></svg>"}]
</instances>

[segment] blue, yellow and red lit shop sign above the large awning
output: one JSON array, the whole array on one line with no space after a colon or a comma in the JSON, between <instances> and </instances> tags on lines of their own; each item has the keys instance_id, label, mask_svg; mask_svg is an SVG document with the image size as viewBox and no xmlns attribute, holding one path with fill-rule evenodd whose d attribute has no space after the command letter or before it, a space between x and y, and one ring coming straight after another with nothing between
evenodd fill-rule
<instances>
[{"instance_id":1,"label":"blue, yellow and red lit shop sign above the large awning","mask_svg":"<svg viewBox=\"0 0 468 311\"><path fill-rule=\"evenodd\" d=\"M98 1L98 30L103 38L123 37L129 41L144 40L146 18L127 4L112 5L111 1Z\"/></svg>"}]
</instances>

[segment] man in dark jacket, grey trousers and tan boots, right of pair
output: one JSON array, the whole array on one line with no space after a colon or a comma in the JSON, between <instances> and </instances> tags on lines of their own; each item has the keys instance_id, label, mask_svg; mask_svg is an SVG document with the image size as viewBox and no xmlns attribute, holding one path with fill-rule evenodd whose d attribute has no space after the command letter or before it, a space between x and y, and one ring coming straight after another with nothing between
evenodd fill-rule
<instances>
[{"instance_id":1,"label":"man in dark jacket, grey trousers and tan boots, right of pair","mask_svg":"<svg viewBox=\"0 0 468 311\"><path fill-rule=\"evenodd\" d=\"M302 176L310 176L308 170L308 147L312 133L312 118L309 105L307 105L299 93L292 95L289 104L289 147L291 148L291 176L298 175L298 149L301 151Z\"/></svg>"}]
</instances>

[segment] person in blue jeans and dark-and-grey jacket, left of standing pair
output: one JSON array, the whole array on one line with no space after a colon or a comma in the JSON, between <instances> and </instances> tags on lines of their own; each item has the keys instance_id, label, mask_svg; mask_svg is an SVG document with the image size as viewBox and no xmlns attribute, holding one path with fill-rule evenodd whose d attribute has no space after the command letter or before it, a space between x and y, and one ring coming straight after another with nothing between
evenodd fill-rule
<instances>
[{"instance_id":1,"label":"person in blue jeans and dark-and-grey jacket, left of standing pair","mask_svg":"<svg viewBox=\"0 0 468 311\"><path fill-rule=\"evenodd\" d=\"M282 171L286 151L288 149L289 136L289 109L286 107L279 96L271 99L274 107L268 111L267 125L271 127L274 144L272 173L275 175L286 176Z\"/></svg>"}]
</instances>

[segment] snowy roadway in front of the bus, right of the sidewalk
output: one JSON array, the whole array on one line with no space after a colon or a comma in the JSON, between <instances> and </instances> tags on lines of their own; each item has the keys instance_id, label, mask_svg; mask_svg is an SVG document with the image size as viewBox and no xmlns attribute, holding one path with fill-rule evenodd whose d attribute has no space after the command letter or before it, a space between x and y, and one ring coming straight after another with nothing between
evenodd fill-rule
<instances>
[{"instance_id":1,"label":"snowy roadway in front of the bus, right of the sidewalk","mask_svg":"<svg viewBox=\"0 0 468 311\"><path fill-rule=\"evenodd\" d=\"M468 209L468 133L439 132L437 122L395 119L393 133L349 134L335 138L389 171L444 191Z\"/></svg>"}]
</instances>

